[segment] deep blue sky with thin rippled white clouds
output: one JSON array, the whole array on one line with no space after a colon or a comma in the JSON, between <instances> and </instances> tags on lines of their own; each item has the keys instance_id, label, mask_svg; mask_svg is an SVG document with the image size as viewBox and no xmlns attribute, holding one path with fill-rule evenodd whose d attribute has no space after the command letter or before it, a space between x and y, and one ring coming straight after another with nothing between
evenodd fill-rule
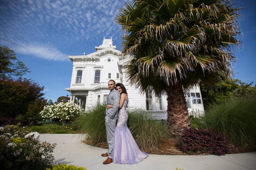
<instances>
[{"instance_id":1,"label":"deep blue sky with thin rippled white clouds","mask_svg":"<svg viewBox=\"0 0 256 170\"><path fill-rule=\"evenodd\" d=\"M68 55L95 52L103 37L113 37L121 50L120 26L113 22L125 0L0 0L0 45L8 46L29 67L31 78L45 86L45 98L56 101L69 93L72 62ZM238 1L237 1L238 2ZM255 82L255 1L239 1L238 19L244 49L238 51L235 77ZM254 83L254 84L255 84Z\"/></svg>"}]
</instances>

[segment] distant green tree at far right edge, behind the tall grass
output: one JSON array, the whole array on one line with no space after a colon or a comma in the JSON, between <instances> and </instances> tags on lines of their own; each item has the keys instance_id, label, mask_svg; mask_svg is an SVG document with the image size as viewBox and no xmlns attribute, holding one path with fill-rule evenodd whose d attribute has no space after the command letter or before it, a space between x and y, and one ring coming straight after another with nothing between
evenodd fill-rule
<instances>
[{"instance_id":1,"label":"distant green tree at far right edge, behind the tall grass","mask_svg":"<svg viewBox=\"0 0 256 170\"><path fill-rule=\"evenodd\" d=\"M241 97L241 96L256 97L256 84L253 87L251 86L253 82L248 84L238 79L235 79L235 82L239 84L238 87L233 92L233 95L235 97Z\"/></svg>"}]
</instances>

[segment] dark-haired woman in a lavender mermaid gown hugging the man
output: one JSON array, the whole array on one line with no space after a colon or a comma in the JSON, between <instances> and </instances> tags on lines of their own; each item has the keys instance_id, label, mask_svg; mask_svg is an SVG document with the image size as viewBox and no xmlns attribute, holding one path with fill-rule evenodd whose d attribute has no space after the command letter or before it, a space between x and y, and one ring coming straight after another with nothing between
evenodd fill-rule
<instances>
[{"instance_id":1,"label":"dark-haired woman in a lavender mermaid gown hugging the man","mask_svg":"<svg viewBox=\"0 0 256 170\"><path fill-rule=\"evenodd\" d=\"M117 83L116 90L121 94L121 98L118 121L114 134L113 163L136 164L145 159L148 154L139 150L131 131L127 127L128 114L126 111L126 106L128 103L128 96L126 88L122 83ZM112 107L112 105L107 105L107 109Z\"/></svg>"}]
</instances>

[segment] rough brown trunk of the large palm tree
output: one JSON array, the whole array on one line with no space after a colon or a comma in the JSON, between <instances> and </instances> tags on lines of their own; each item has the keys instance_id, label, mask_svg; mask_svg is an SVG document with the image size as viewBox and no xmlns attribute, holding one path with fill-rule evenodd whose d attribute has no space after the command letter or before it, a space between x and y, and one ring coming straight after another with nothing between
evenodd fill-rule
<instances>
[{"instance_id":1,"label":"rough brown trunk of the large palm tree","mask_svg":"<svg viewBox=\"0 0 256 170\"><path fill-rule=\"evenodd\" d=\"M181 84L169 86L167 90L167 123L171 125L171 132L182 135L182 131L190 125L187 115L187 104Z\"/></svg>"}]
</instances>

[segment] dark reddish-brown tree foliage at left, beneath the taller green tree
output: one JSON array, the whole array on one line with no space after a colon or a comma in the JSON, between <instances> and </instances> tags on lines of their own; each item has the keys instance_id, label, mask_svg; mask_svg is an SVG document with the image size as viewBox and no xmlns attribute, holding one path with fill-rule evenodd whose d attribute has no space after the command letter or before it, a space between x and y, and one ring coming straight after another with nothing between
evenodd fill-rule
<instances>
[{"instance_id":1,"label":"dark reddish-brown tree foliage at left, beneath the taller green tree","mask_svg":"<svg viewBox=\"0 0 256 170\"><path fill-rule=\"evenodd\" d=\"M31 79L0 80L0 117L22 118L33 121L46 104L44 87Z\"/></svg>"}]
</instances>

